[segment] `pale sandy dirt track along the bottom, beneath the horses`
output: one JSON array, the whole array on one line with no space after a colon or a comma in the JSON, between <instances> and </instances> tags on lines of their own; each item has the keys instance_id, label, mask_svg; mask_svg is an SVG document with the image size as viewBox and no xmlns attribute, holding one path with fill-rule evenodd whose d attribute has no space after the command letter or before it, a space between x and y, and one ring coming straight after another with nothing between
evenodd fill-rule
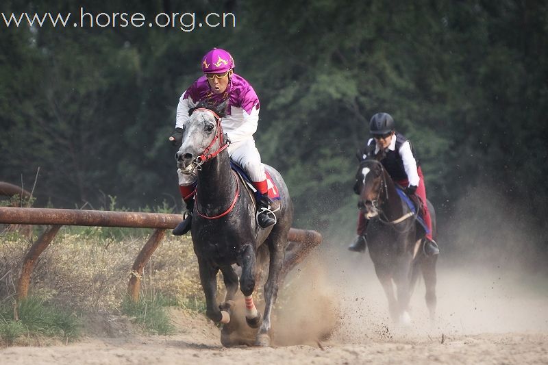
<instances>
[{"instance_id":1,"label":"pale sandy dirt track along the bottom, beneath the horses","mask_svg":"<svg viewBox=\"0 0 548 365\"><path fill-rule=\"evenodd\" d=\"M548 336L506 333L435 340L327 342L223 349L190 334L169 338L99 338L66 347L18 347L0 351L3 364L547 364Z\"/></svg>"}]
</instances>

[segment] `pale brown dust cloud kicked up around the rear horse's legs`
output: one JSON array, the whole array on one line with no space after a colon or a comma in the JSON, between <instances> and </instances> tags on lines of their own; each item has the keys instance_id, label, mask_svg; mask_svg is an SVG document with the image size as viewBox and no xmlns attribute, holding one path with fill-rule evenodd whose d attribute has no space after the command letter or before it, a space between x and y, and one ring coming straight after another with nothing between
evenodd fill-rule
<instances>
[{"instance_id":1,"label":"pale brown dust cloud kicked up around the rear horse's legs","mask_svg":"<svg viewBox=\"0 0 548 365\"><path fill-rule=\"evenodd\" d=\"M282 331L286 344L299 338L321 340L327 333L332 341L362 343L548 332L546 253L539 249L545 238L530 225L530 216L501 195L482 189L471 190L455 212L438 236L434 323L429 320L422 279L410 303L412 324L398 327L388 316L369 253L347 251L348 238L330 238L280 290L283 304L277 329L290 328Z\"/></svg>"}]
</instances>

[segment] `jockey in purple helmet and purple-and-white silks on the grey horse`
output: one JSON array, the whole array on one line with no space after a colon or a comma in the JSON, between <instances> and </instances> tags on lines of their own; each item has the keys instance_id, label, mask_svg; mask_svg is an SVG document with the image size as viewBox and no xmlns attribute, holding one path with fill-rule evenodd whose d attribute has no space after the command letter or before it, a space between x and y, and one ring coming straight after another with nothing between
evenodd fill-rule
<instances>
[{"instance_id":1,"label":"jockey in purple helmet and purple-and-white silks on the grey horse","mask_svg":"<svg viewBox=\"0 0 548 365\"><path fill-rule=\"evenodd\" d=\"M272 203L267 195L268 184L264 167L261 164L259 151L255 147L253 134L257 131L259 121L259 99L249 82L234 73L234 59L224 49L212 49L203 56L201 61L203 76L197 79L183 92L177 106L177 122L175 133L169 138L174 145L180 145L184 123L190 116L188 111L202 101L219 105L227 101L226 116L221 125L230 140L228 153L232 160L238 162L253 181L253 186L260 193L258 207L262 213L258 215L258 223L262 228L275 224L275 220L266 214ZM179 223L173 234L180 236L190 230L194 193L197 175L184 174L179 168L179 190L186 203L186 218Z\"/></svg>"}]
</instances>

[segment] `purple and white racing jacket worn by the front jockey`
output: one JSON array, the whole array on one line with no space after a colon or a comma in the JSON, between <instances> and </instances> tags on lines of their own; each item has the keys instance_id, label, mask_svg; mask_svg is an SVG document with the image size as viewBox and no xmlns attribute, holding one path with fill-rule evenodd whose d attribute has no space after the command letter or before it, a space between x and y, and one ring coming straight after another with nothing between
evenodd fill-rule
<instances>
[{"instance_id":1,"label":"purple and white racing jacket worn by the front jockey","mask_svg":"<svg viewBox=\"0 0 548 365\"><path fill-rule=\"evenodd\" d=\"M227 89L223 94L214 94L205 76L197 79L179 98L177 105L177 123L175 127L182 128L188 121L188 110L194 108L200 101L209 99L220 104L228 99L227 114L221 123L223 131L231 142L240 142L253 138L259 121L259 98L246 79L233 73Z\"/></svg>"}]
</instances>

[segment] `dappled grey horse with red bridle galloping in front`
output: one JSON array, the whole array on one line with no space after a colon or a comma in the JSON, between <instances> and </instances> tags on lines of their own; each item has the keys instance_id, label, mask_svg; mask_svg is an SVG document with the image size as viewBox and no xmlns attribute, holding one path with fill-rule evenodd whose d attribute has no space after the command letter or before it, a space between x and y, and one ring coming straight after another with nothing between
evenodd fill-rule
<instances>
[{"instance_id":1,"label":"dappled grey horse with red bridle galloping in front","mask_svg":"<svg viewBox=\"0 0 548 365\"><path fill-rule=\"evenodd\" d=\"M258 227L255 199L230 166L229 142L221 126L224 109L224 103L218 106L202 104L191 109L183 128L182 145L175 157L177 166L185 173L197 174L191 234L206 296L206 316L216 323L226 325L230 322L238 290L238 275L233 266L236 264L241 268L239 286L246 299L247 324L258 327L255 344L269 346L271 311L280 280L286 272L283 270L284 255L293 208L282 176L271 166L264 165L279 190L281 201L275 212L277 223L267 229ZM267 257L267 263L261 262L263 257ZM264 271L263 264L268 264L268 278L264 284L265 307L261 316L251 294ZM226 286L225 299L220 305L216 301L219 270Z\"/></svg>"}]
</instances>

